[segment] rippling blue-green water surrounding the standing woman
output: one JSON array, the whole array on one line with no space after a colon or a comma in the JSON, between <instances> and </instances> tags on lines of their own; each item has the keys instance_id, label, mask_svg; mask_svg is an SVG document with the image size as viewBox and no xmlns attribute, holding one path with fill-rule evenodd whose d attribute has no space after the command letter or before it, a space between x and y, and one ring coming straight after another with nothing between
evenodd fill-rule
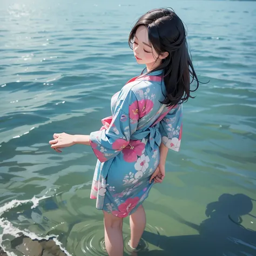
<instances>
[{"instance_id":1,"label":"rippling blue-green water surrounding the standing woman","mask_svg":"<svg viewBox=\"0 0 256 256\"><path fill-rule=\"evenodd\" d=\"M1 1L2 246L23 231L58 235L70 255L106 255L89 199L95 156L84 145L58 154L48 141L99 129L111 96L143 68L127 45L131 26L159 6L187 24L194 67L210 83L184 104L182 148L145 201L138 255L256 254L256 3L245 1ZM124 233L128 255L127 220Z\"/></svg>"}]
</instances>

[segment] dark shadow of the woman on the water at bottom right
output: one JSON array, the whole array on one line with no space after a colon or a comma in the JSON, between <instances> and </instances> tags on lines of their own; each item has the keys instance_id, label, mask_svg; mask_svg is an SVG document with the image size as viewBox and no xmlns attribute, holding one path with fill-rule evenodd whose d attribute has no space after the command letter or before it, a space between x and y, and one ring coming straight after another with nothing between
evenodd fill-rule
<instances>
[{"instance_id":1,"label":"dark shadow of the woman on the water at bottom right","mask_svg":"<svg viewBox=\"0 0 256 256\"><path fill-rule=\"evenodd\" d=\"M218 201L207 205L208 217L200 225L170 211L170 217L198 231L198 235L166 237L145 231L143 239L163 251L140 252L149 256L253 256L256 255L256 232L242 226L241 216L250 214L251 198L244 194L222 194ZM255 218L255 217L254 217ZM134 253L134 256L136 253Z\"/></svg>"}]
</instances>

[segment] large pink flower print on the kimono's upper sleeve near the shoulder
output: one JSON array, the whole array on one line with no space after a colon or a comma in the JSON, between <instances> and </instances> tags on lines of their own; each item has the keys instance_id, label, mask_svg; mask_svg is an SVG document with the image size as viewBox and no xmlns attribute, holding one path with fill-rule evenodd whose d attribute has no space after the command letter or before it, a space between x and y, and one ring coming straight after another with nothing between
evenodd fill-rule
<instances>
[{"instance_id":1,"label":"large pink flower print on the kimono's upper sleeve near the shoulder","mask_svg":"<svg viewBox=\"0 0 256 256\"><path fill-rule=\"evenodd\" d=\"M150 99L142 99L138 102L133 102L129 106L129 116L132 120L139 120L146 116L152 109L154 103Z\"/></svg>"}]
</instances>

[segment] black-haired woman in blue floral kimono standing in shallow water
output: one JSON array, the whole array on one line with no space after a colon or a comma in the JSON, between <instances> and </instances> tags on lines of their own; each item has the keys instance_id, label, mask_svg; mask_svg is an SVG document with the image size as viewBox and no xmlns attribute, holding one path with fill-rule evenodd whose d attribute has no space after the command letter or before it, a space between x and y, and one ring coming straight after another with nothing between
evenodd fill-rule
<instances>
[{"instance_id":1,"label":"black-haired woman in blue floral kimono standing in shallow water","mask_svg":"<svg viewBox=\"0 0 256 256\"><path fill-rule=\"evenodd\" d=\"M146 225L143 201L153 184L165 177L168 150L179 151L182 103L191 97L190 76L199 85L183 22L173 11L154 9L144 14L132 28L129 44L147 72L129 80L112 97L112 116L90 135L55 133L50 141L57 152L75 144L90 145L98 158L91 198L104 213L110 256L123 255L122 226L127 216L129 245L138 246Z\"/></svg>"}]
</instances>

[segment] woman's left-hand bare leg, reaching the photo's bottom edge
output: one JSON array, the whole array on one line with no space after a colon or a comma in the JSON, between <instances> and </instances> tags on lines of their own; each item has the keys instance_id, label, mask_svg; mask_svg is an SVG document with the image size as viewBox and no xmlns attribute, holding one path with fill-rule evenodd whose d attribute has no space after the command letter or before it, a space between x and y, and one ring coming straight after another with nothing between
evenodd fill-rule
<instances>
[{"instance_id":1,"label":"woman's left-hand bare leg, reaching the photo's bottom edge","mask_svg":"<svg viewBox=\"0 0 256 256\"><path fill-rule=\"evenodd\" d=\"M123 256L123 218L115 217L111 213L104 213L105 246L109 256Z\"/></svg>"}]
</instances>

